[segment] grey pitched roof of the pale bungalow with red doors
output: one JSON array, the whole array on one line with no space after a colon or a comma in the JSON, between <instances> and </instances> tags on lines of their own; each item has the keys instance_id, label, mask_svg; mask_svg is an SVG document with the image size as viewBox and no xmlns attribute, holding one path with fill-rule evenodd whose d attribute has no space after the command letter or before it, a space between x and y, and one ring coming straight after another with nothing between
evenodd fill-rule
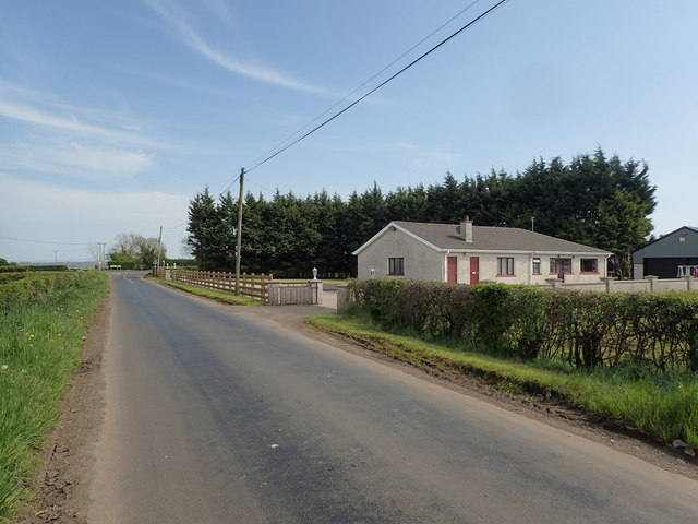
<instances>
[{"instance_id":1,"label":"grey pitched roof of the pale bungalow with red doors","mask_svg":"<svg viewBox=\"0 0 698 524\"><path fill-rule=\"evenodd\" d=\"M472 226L472 242L466 242L456 230L455 224L429 224L420 222L395 221L385 226L373 238L361 246L353 254L359 254L390 227L422 241L437 251L509 251L542 253L583 253L610 255L607 251L570 242L561 238L517 227Z\"/></svg>"}]
</instances>

